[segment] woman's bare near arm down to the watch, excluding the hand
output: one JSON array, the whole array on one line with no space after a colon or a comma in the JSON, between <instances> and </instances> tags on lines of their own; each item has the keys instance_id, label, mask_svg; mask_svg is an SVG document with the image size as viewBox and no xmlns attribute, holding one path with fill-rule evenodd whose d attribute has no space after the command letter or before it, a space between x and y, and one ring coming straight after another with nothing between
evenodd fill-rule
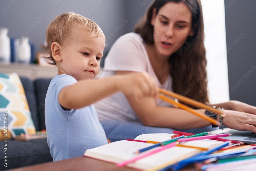
<instances>
[{"instance_id":1,"label":"woman's bare near arm down to the watch, excluding the hand","mask_svg":"<svg viewBox=\"0 0 256 171\"><path fill-rule=\"evenodd\" d=\"M118 75L125 75L132 72L117 71L116 73ZM134 99L133 97L126 95L126 98L136 115L146 126L189 129L193 126L205 127L210 125L210 122L207 120L195 116L187 110L157 106L154 97ZM204 114L205 109L197 110L197 112Z\"/></svg>"}]
</instances>

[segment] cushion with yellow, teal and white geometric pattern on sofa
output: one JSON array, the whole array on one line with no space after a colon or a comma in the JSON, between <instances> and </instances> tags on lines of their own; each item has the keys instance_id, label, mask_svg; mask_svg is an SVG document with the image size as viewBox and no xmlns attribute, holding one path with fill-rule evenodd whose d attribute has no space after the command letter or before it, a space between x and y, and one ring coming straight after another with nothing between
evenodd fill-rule
<instances>
[{"instance_id":1,"label":"cushion with yellow, teal and white geometric pattern on sofa","mask_svg":"<svg viewBox=\"0 0 256 171\"><path fill-rule=\"evenodd\" d=\"M21 133L35 134L36 129L31 118L24 88L17 73L0 73L0 138L15 137ZM7 112L6 112L7 111ZM8 117L8 133L4 126Z\"/></svg>"}]
</instances>

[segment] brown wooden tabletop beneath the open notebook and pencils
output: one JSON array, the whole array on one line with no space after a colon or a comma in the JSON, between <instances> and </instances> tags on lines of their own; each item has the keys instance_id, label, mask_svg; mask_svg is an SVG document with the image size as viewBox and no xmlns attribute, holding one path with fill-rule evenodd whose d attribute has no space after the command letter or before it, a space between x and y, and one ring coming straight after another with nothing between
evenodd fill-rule
<instances>
[{"instance_id":1,"label":"brown wooden tabletop beneath the open notebook and pencils","mask_svg":"<svg viewBox=\"0 0 256 171\"><path fill-rule=\"evenodd\" d=\"M54 171L138 171L137 169L129 167L116 167L115 163L104 162L101 160L89 158L89 157L76 157L58 162L48 162L43 164L37 164L27 167L19 167L8 171L42 171L42 170L54 170ZM192 167L182 169L182 171L192 170Z\"/></svg>"}]
</instances>

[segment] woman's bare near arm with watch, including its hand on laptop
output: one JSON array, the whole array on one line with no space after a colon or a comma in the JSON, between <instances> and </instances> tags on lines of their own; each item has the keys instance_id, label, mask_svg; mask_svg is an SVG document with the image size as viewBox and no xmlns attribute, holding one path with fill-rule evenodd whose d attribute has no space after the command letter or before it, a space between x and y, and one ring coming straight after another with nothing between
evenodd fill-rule
<instances>
[{"instance_id":1,"label":"woman's bare near arm with watch, including its hand on laptop","mask_svg":"<svg viewBox=\"0 0 256 171\"><path fill-rule=\"evenodd\" d=\"M118 74L127 74L127 71L117 71ZM146 126L169 127L174 129L189 129L191 127L205 127L210 122L200 118L186 110L157 106L156 100L152 97L145 97L136 100L126 96L136 115ZM216 104L217 107L230 109L228 103ZM231 105L232 106L232 105ZM205 109L196 110L202 114ZM237 130L249 130L256 133L256 115L225 109L226 117L223 124ZM218 115L219 116L219 115Z\"/></svg>"}]
</instances>

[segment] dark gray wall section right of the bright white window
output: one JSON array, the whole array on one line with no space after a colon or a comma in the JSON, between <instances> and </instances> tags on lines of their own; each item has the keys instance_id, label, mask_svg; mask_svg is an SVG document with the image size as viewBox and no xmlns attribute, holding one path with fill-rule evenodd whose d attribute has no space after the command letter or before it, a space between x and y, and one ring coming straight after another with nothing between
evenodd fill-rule
<instances>
[{"instance_id":1,"label":"dark gray wall section right of the bright white window","mask_svg":"<svg viewBox=\"0 0 256 171\"><path fill-rule=\"evenodd\" d=\"M256 1L232 2L225 0L230 100L256 106Z\"/></svg>"}]
</instances>

